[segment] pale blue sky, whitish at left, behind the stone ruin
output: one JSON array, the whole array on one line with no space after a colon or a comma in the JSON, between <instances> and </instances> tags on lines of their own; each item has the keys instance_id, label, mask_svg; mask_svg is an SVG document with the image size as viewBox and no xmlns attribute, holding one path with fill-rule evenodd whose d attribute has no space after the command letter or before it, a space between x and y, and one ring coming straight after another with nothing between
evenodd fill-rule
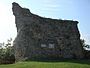
<instances>
[{"instance_id":1,"label":"pale blue sky, whitish at left, behind the stone ruin","mask_svg":"<svg viewBox=\"0 0 90 68\"><path fill-rule=\"evenodd\" d=\"M42 17L78 21L81 38L90 45L90 0L0 0L0 43L17 35L13 2Z\"/></svg>"}]
</instances>

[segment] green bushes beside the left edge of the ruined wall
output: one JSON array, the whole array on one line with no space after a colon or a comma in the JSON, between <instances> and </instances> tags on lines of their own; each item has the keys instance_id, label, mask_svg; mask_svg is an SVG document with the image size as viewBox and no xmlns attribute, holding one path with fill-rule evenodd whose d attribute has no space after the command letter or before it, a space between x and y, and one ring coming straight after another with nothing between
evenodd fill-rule
<instances>
[{"instance_id":1,"label":"green bushes beside the left edge of the ruined wall","mask_svg":"<svg viewBox=\"0 0 90 68\"><path fill-rule=\"evenodd\" d=\"M14 50L13 46L11 46L11 41L12 39L7 40L7 44L4 44L0 48L0 64L8 64L15 62Z\"/></svg>"}]
</instances>

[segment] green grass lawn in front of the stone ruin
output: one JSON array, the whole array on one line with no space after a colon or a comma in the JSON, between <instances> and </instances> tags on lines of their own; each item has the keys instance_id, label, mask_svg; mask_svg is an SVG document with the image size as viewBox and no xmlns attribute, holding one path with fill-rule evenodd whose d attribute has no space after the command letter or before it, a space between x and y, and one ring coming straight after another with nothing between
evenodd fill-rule
<instances>
[{"instance_id":1,"label":"green grass lawn in front of the stone ruin","mask_svg":"<svg viewBox=\"0 0 90 68\"><path fill-rule=\"evenodd\" d=\"M90 68L90 60L25 61L0 65L0 68Z\"/></svg>"}]
</instances>

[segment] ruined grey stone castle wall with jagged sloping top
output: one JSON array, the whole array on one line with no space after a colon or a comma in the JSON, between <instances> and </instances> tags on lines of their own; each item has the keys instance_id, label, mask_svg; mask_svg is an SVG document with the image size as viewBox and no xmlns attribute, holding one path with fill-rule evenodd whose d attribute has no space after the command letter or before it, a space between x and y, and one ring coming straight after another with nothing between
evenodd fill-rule
<instances>
[{"instance_id":1,"label":"ruined grey stone castle wall with jagged sloping top","mask_svg":"<svg viewBox=\"0 0 90 68\"><path fill-rule=\"evenodd\" d=\"M12 5L16 60L83 58L77 21L44 18L15 2Z\"/></svg>"}]
</instances>

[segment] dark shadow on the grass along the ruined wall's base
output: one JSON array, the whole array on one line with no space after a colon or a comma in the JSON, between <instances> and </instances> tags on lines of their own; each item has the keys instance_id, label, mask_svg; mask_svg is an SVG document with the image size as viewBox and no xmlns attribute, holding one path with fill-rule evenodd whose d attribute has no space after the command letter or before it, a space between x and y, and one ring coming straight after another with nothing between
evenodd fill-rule
<instances>
[{"instance_id":1,"label":"dark shadow on the grass along the ruined wall's base","mask_svg":"<svg viewBox=\"0 0 90 68\"><path fill-rule=\"evenodd\" d=\"M78 64L88 64L90 65L90 59L55 59L55 60L51 60L51 59L45 59L45 60L30 60L30 62L48 62L48 63L59 63L59 62L65 62L65 63L78 63Z\"/></svg>"}]
</instances>

